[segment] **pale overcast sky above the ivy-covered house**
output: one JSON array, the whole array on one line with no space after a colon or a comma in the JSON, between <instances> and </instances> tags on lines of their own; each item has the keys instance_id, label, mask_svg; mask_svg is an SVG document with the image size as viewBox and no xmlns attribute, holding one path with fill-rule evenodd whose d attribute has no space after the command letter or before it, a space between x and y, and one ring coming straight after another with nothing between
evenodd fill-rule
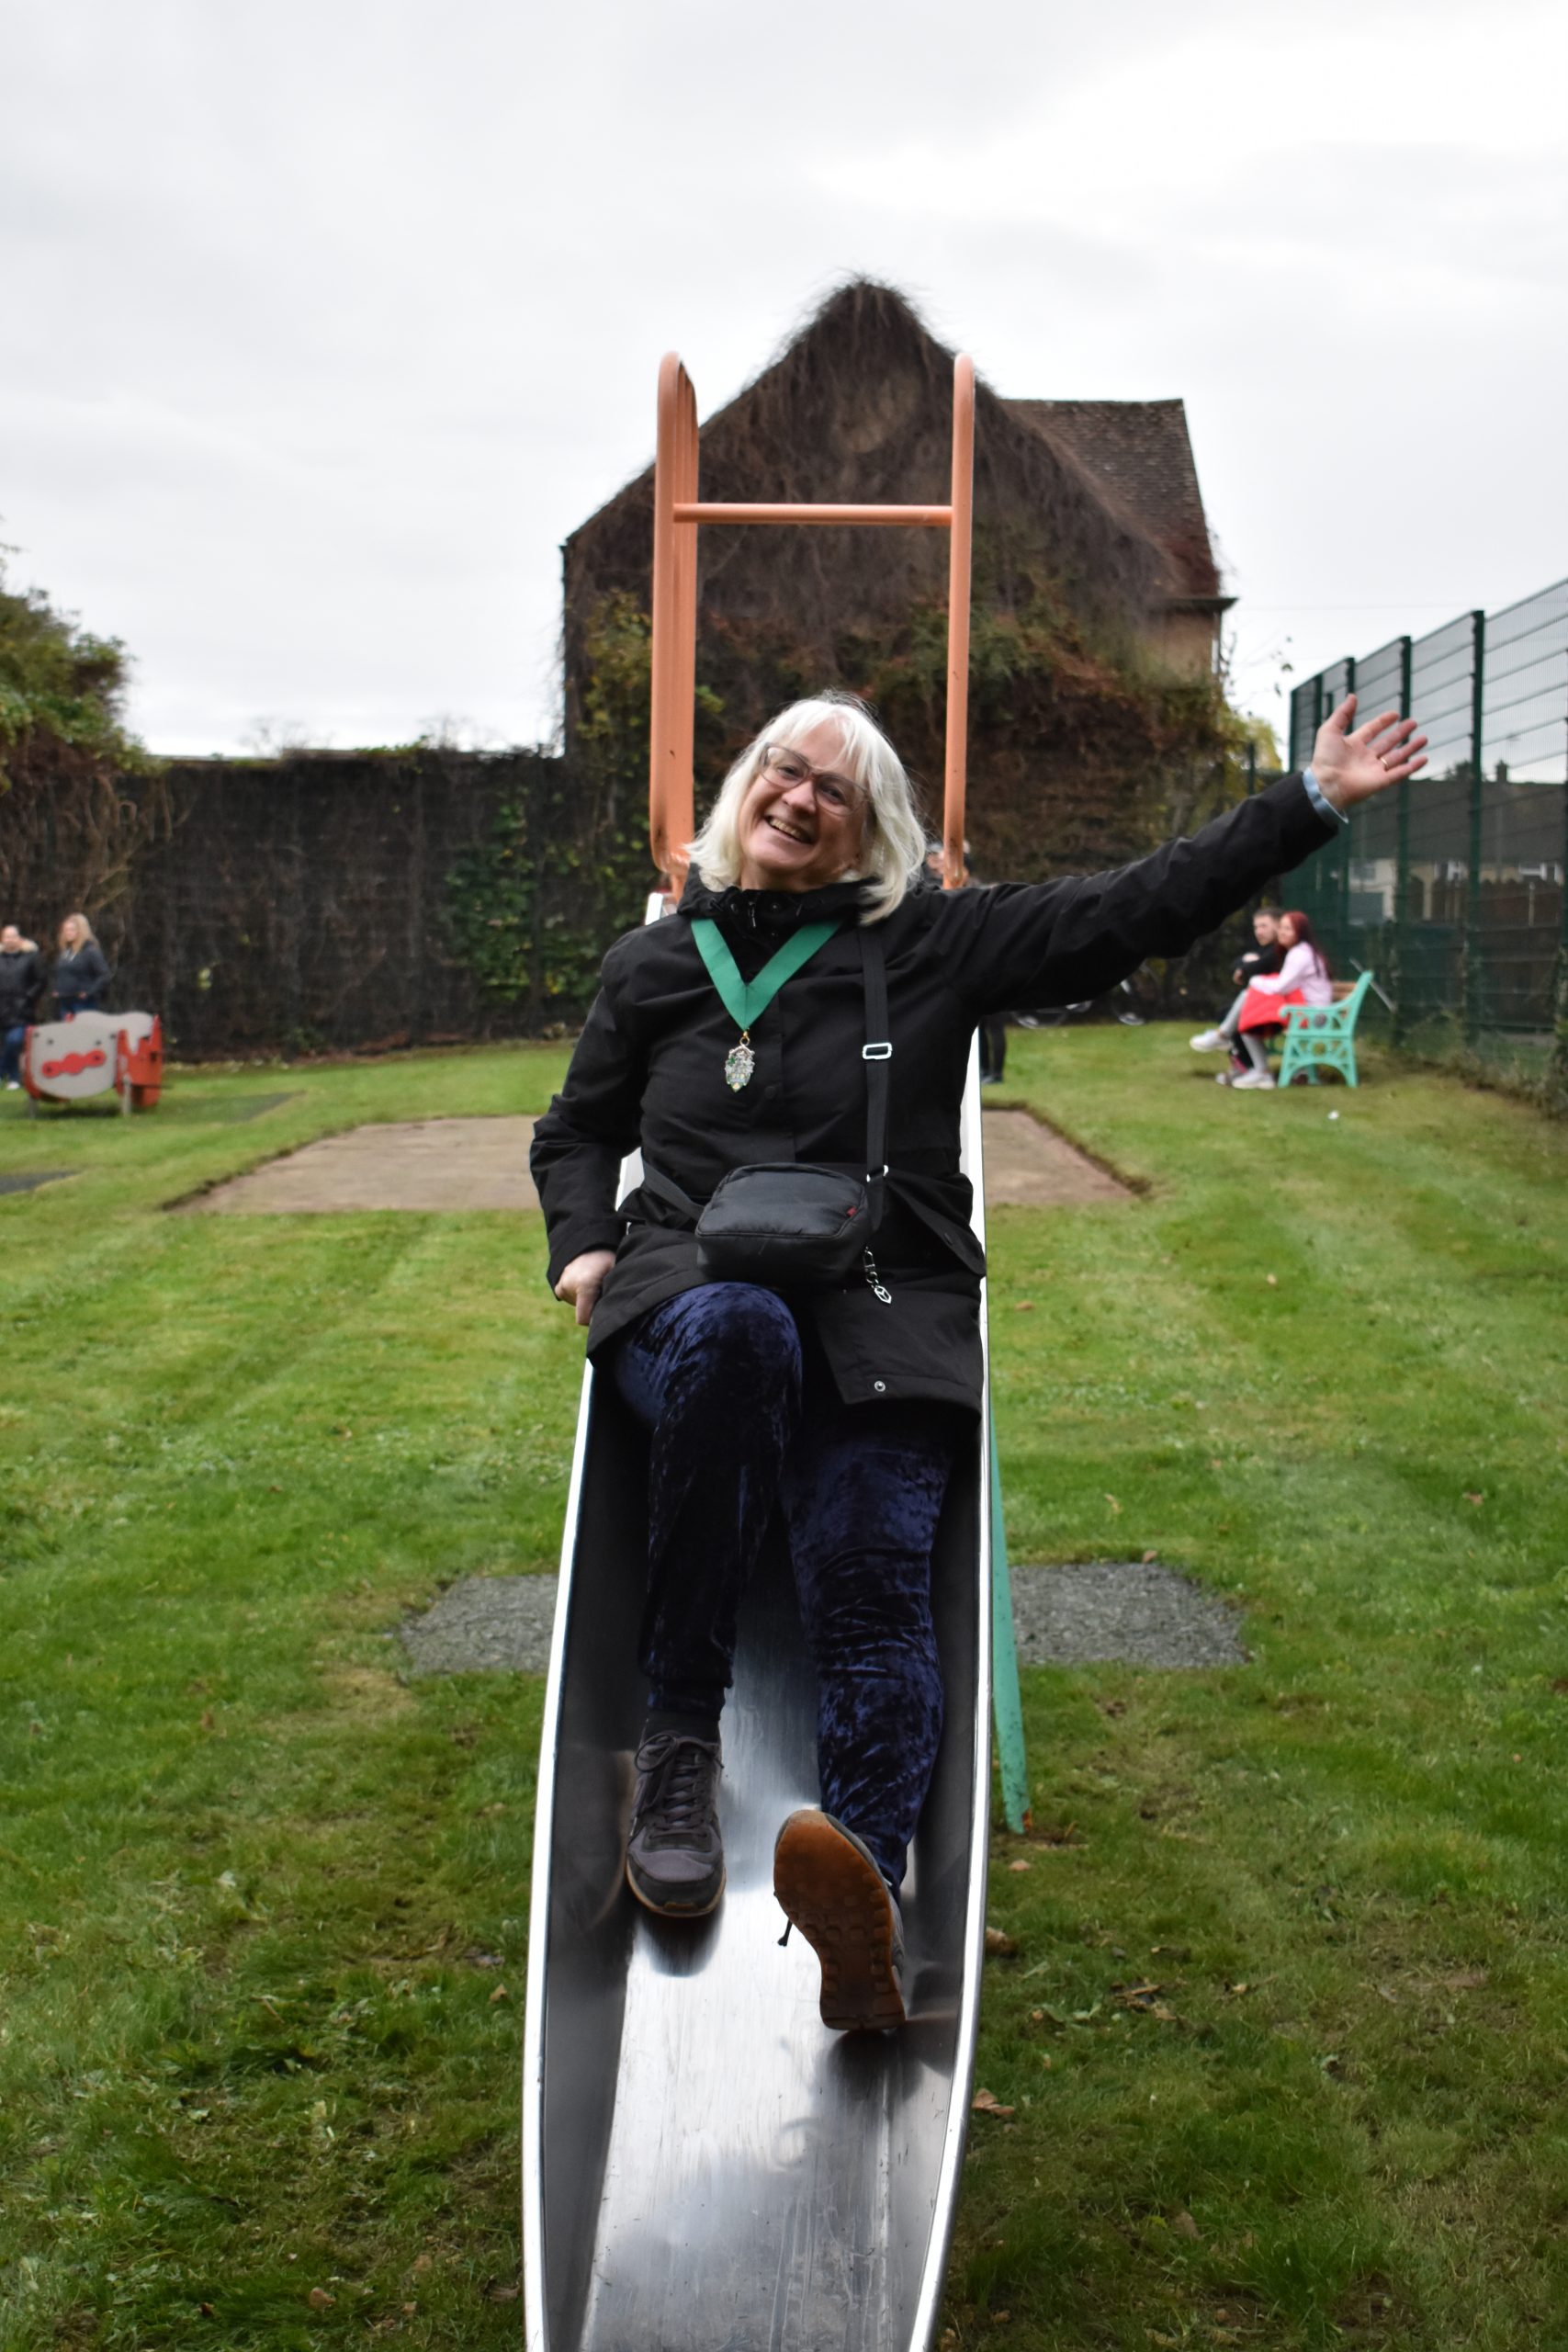
<instances>
[{"instance_id":1,"label":"pale overcast sky above the ivy-covered house","mask_svg":"<svg viewBox=\"0 0 1568 2352\"><path fill-rule=\"evenodd\" d=\"M1234 694L1568 572L1561 0L0 0L0 539L158 750L555 727L559 541L849 273L1187 402ZM757 485L759 496L766 485Z\"/></svg>"}]
</instances>

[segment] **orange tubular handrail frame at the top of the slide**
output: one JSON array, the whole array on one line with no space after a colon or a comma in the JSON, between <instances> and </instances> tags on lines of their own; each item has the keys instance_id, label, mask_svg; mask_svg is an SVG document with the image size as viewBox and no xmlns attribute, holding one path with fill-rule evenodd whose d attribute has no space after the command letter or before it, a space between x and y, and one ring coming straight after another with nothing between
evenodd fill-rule
<instances>
[{"instance_id":1,"label":"orange tubular handrail frame at the top of the slide","mask_svg":"<svg viewBox=\"0 0 1568 2352\"><path fill-rule=\"evenodd\" d=\"M696 724L696 534L703 522L875 522L950 534L947 553L947 757L943 779L943 882L964 880L964 748L969 741L969 572L976 475L976 365L952 362L952 496L947 506L703 506L698 501L696 393L677 353L658 369L654 466L654 727L649 743L649 844L675 894L686 882L696 833L691 753Z\"/></svg>"}]
</instances>

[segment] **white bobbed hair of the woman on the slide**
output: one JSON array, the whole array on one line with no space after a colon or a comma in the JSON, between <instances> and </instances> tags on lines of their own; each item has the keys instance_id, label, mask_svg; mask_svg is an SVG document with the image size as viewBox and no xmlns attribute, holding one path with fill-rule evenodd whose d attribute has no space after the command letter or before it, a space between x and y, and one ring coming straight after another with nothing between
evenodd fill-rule
<instances>
[{"instance_id":1,"label":"white bobbed hair of the woman on the slide","mask_svg":"<svg viewBox=\"0 0 1568 2352\"><path fill-rule=\"evenodd\" d=\"M865 880L870 889L860 922L882 922L924 866L926 830L903 760L853 694L813 694L769 720L724 779L708 823L691 842L691 863L710 889L731 889L741 880L741 802L762 755L769 743L799 748L813 727L837 729L844 771L867 793L860 858L835 880Z\"/></svg>"}]
</instances>

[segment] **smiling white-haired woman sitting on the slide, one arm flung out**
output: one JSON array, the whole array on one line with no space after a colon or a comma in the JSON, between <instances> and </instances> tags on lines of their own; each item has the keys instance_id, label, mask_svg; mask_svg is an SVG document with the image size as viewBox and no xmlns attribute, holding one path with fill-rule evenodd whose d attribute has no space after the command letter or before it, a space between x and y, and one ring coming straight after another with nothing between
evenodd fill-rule
<instances>
[{"instance_id":1,"label":"smiling white-haired woman sitting on the slide, one arm flung out","mask_svg":"<svg viewBox=\"0 0 1568 2352\"><path fill-rule=\"evenodd\" d=\"M943 1724L931 1543L980 1406L983 1261L959 1174L976 1023L1180 955L1352 802L1422 767L1410 720L1352 722L1354 696L1305 776L1119 873L931 891L914 887L910 781L870 710L795 703L729 771L675 917L604 957L536 1127L548 1279L651 1439L625 1875L665 1917L719 1903L736 1611L780 1512L818 1675L820 1809L783 1823L773 1884L818 1952L832 2027L905 2016L898 1889ZM877 1063L886 1171L867 1167ZM616 1204L632 1148L644 1183ZM731 1171L780 1162L867 1174L867 1247L832 1282L708 1279L693 1211Z\"/></svg>"}]
</instances>

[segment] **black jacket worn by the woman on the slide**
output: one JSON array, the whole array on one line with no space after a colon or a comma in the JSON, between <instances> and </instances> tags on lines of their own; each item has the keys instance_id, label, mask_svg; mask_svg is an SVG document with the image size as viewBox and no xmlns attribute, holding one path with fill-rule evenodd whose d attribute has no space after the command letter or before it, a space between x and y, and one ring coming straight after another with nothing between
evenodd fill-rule
<instances>
[{"instance_id":1,"label":"black jacket worn by the woman on the slide","mask_svg":"<svg viewBox=\"0 0 1568 2352\"><path fill-rule=\"evenodd\" d=\"M1333 821L1312 807L1300 776L1284 776L1194 840L1168 842L1117 873L910 891L886 917L891 1174L872 1247L893 1301L879 1301L860 1275L790 1301L816 1327L846 1402L936 1397L978 1406L985 1268L959 1174L976 1023L1009 1004L1098 997L1147 955L1182 955L1331 833ZM531 1152L550 1235L548 1279L557 1282L585 1249L616 1251L590 1355L701 1279L696 1242L677 1211L642 1190L616 1207L625 1152L642 1148L696 1200L708 1200L729 1169L757 1160L863 1167L858 898L856 882L715 894L693 877L675 920L628 931L604 957L602 993ZM844 929L762 1014L752 1030L757 1070L741 1094L724 1082L736 1023L698 955L693 915L719 924L745 978L797 924L844 917Z\"/></svg>"}]
</instances>

